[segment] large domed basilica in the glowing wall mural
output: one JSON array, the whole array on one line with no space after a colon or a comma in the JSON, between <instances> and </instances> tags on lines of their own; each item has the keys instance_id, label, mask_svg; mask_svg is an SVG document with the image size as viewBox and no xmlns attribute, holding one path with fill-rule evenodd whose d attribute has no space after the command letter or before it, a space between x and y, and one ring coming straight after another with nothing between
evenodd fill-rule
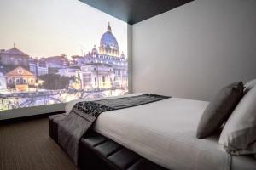
<instances>
[{"instance_id":1,"label":"large domed basilica in the glowing wall mural","mask_svg":"<svg viewBox=\"0 0 256 170\"><path fill-rule=\"evenodd\" d=\"M120 54L109 24L102 35L99 51L94 46L84 56L84 64L81 68L83 88L128 88L128 62L125 54Z\"/></svg>"}]
</instances>

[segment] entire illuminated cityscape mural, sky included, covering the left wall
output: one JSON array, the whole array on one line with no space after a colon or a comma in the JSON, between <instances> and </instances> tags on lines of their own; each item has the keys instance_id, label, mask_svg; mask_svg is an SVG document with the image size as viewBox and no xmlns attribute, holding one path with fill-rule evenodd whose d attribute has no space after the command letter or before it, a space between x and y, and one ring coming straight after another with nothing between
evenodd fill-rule
<instances>
[{"instance_id":1,"label":"entire illuminated cityscape mural, sky included, covering the left wall","mask_svg":"<svg viewBox=\"0 0 256 170\"><path fill-rule=\"evenodd\" d=\"M0 20L2 24L6 23L6 28L10 28L9 31L6 31L6 28L0 29L0 37L1 34L4 35L0 40L0 111L128 93L126 23L79 1L52 2L55 1L41 1L41 4L35 3L36 6L30 4L31 12L37 11L35 8L42 8L42 5L43 8L44 5L56 5L60 9L59 3L71 3L73 10L83 9L79 14L84 14L84 17L79 17L81 20L72 20L68 14L69 24L72 24L70 26L78 26L78 29L72 29L75 32L60 34L60 29L70 31L69 28L61 26L55 31L51 30L50 35L45 34L49 31L47 26L53 24L53 19L52 15L45 16L43 13L20 16L30 18L23 22L23 27L35 26L38 20L43 22L40 23L41 26L34 27L36 31L32 29L22 32L20 29L25 28L14 28L15 23L10 23L17 21L19 17L10 19L10 14L4 18L13 10L1 10L0 7L0 16L3 17L0 17ZM14 3L16 1L7 1L4 6L9 9L19 8L20 14L30 6L25 8ZM3 7L3 4L0 6ZM67 6L62 5L62 9L65 8ZM47 10L49 13L53 12L49 8ZM67 17L65 14L58 15L57 19ZM94 14L94 17L90 17L90 14ZM76 13L73 15L78 16ZM68 19L63 20L64 25L68 26ZM20 26L20 23L18 24ZM44 37L41 37L40 31ZM29 37L20 35L22 33L29 34Z\"/></svg>"}]
</instances>

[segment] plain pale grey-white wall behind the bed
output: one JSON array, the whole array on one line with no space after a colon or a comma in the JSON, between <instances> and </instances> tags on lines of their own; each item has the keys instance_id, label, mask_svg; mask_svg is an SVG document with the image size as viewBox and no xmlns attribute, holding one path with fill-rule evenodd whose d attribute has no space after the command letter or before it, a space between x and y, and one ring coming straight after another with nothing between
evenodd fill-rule
<instances>
[{"instance_id":1,"label":"plain pale grey-white wall behind the bed","mask_svg":"<svg viewBox=\"0 0 256 170\"><path fill-rule=\"evenodd\" d=\"M255 77L255 0L195 0L132 26L133 92L210 100Z\"/></svg>"}]
</instances>

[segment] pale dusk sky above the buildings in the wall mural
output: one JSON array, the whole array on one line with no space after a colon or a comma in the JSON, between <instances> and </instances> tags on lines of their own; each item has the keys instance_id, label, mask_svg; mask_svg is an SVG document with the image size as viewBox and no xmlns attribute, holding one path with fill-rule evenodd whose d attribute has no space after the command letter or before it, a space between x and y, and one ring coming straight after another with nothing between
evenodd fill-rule
<instances>
[{"instance_id":1,"label":"pale dusk sky above the buildings in the wall mural","mask_svg":"<svg viewBox=\"0 0 256 170\"><path fill-rule=\"evenodd\" d=\"M120 52L127 54L125 22L77 0L0 1L0 20L3 49L16 43L17 48L34 57L81 55L94 45L99 47L109 21Z\"/></svg>"}]
</instances>

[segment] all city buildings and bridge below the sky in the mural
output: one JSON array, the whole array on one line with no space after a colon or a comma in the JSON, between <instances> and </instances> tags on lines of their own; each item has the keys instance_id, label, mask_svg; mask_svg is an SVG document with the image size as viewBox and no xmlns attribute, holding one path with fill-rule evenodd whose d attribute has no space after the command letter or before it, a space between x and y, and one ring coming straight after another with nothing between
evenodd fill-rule
<instances>
[{"instance_id":1,"label":"all city buildings and bridge below the sky in the mural","mask_svg":"<svg viewBox=\"0 0 256 170\"><path fill-rule=\"evenodd\" d=\"M0 51L0 111L122 95L128 63L111 26L88 54L33 57L17 45Z\"/></svg>"}]
</instances>

